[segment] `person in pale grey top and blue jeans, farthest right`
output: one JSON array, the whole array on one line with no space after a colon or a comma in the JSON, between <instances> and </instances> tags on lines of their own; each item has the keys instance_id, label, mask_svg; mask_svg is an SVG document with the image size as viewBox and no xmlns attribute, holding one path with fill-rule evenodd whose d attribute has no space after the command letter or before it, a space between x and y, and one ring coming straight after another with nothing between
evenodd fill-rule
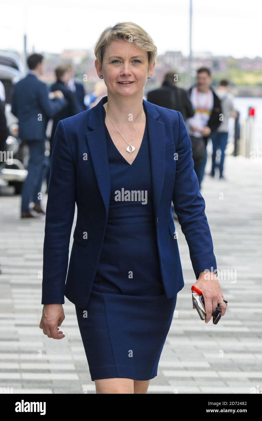
<instances>
[{"instance_id":1,"label":"person in pale grey top and blue jeans, farthest right","mask_svg":"<svg viewBox=\"0 0 262 421\"><path fill-rule=\"evenodd\" d=\"M214 177L215 175L215 168L216 168L216 156L217 156L217 149L220 149L220 163L219 163L219 173L220 179L224 179L223 176L223 166L225 160L225 148L228 143L228 120L230 117L233 116L234 112L234 105L233 105L233 95L232 93L228 92L229 83L228 80L221 80L220 84L216 90L217 96L221 101L222 107L222 114L223 114L223 121L220 124L217 131L211 134L212 145L213 145L213 153L212 153L212 170L210 175Z\"/></svg>"}]
</instances>

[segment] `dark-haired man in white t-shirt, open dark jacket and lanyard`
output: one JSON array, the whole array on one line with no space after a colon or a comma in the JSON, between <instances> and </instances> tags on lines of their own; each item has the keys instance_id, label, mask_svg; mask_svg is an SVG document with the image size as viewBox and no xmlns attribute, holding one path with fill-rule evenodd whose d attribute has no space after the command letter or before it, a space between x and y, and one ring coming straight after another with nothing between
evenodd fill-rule
<instances>
[{"instance_id":1,"label":"dark-haired man in white t-shirt, open dark jacket and lanyard","mask_svg":"<svg viewBox=\"0 0 262 421\"><path fill-rule=\"evenodd\" d=\"M191 138L194 170L198 178L199 190L205 173L207 141L211 133L216 131L221 124L221 103L211 88L212 80L210 70L207 67L201 67L197 70L196 85L188 91L195 114L187 120L186 125Z\"/></svg>"}]
</instances>

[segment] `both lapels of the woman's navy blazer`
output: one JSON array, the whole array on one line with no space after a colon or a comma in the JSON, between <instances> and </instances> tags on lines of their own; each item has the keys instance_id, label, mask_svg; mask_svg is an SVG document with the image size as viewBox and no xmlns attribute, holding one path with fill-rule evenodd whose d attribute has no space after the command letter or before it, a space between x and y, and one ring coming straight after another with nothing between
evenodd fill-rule
<instances>
[{"instance_id":1,"label":"both lapels of the woman's navy blazer","mask_svg":"<svg viewBox=\"0 0 262 421\"><path fill-rule=\"evenodd\" d=\"M88 127L92 131L86 133L95 176L108 217L111 181L109 173L108 153L106 146L106 133L103 125L102 107L107 101L103 97L95 107L90 110ZM155 106L143 99L147 114L148 143L151 160L151 177L153 189L153 208L155 216L158 214L165 174L165 128L164 123L157 121L159 112Z\"/></svg>"}]
</instances>

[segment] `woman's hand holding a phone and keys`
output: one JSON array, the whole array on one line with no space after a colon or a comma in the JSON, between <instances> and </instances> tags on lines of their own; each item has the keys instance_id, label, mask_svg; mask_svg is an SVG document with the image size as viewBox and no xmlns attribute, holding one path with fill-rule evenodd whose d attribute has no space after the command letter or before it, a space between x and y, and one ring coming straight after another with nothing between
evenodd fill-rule
<instances>
[{"instance_id":1,"label":"woman's hand holding a phone and keys","mask_svg":"<svg viewBox=\"0 0 262 421\"><path fill-rule=\"evenodd\" d=\"M200 272L198 280L194 286L201 290L205 301L206 319L208 323L212 317L212 312L216 311L217 306L221 307L221 315L224 316L227 304L222 302L225 297L222 293L220 283L217 279L217 274L214 272ZM219 304L220 303L220 304Z\"/></svg>"}]
</instances>

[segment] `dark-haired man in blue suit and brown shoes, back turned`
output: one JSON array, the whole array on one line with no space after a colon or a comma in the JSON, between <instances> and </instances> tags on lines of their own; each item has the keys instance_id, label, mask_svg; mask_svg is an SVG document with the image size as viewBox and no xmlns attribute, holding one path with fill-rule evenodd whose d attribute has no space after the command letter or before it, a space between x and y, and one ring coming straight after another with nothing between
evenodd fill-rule
<instances>
[{"instance_id":1,"label":"dark-haired man in blue suit and brown shoes, back turned","mask_svg":"<svg viewBox=\"0 0 262 421\"><path fill-rule=\"evenodd\" d=\"M28 75L16 85L12 100L12 113L19 119L19 137L29 146L28 175L24 181L21 200L21 218L33 218L45 213L41 208L41 187L45 160L45 131L48 120L67 105L61 91L53 92L55 101L49 99L48 87L39 76L43 56L32 54L27 59ZM30 201L34 208L29 208Z\"/></svg>"}]
</instances>

